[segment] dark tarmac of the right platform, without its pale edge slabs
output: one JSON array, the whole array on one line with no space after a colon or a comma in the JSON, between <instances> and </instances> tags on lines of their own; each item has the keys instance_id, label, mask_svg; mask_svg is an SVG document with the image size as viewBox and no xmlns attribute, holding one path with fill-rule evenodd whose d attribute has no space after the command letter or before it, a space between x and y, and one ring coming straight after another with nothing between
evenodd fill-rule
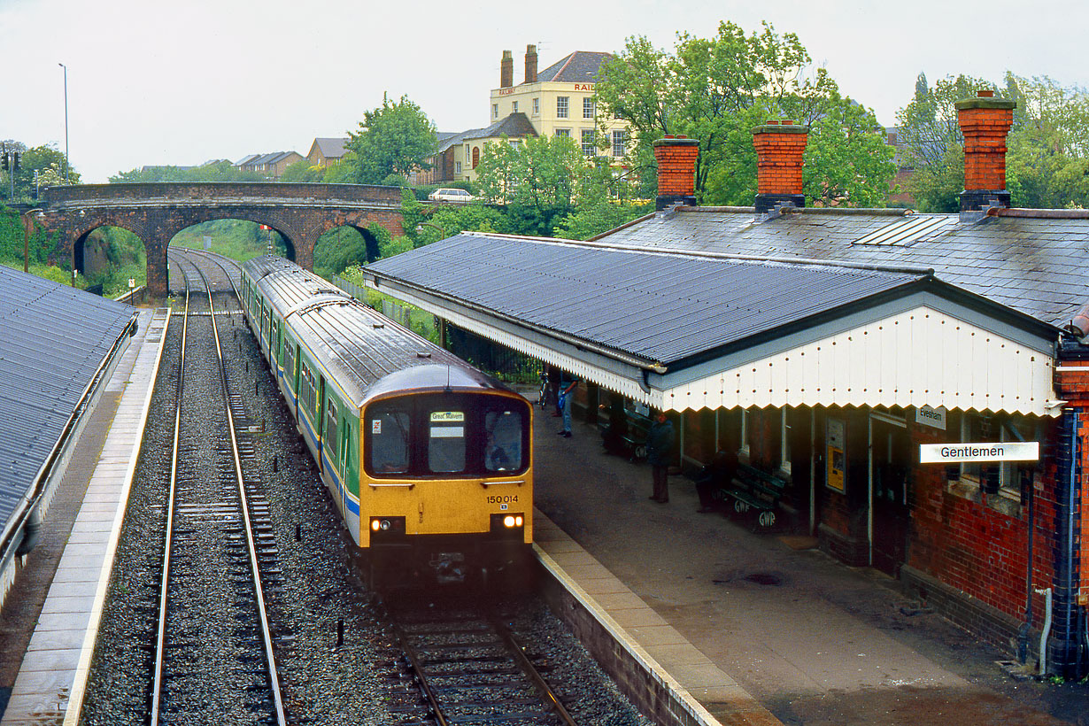
<instances>
[{"instance_id":1,"label":"dark tarmac of the right platform, without its pale edge slabs","mask_svg":"<svg viewBox=\"0 0 1089 726\"><path fill-rule=\"evenodd\" d=\"M651 502L649 466L537 411L537 507L784 724L1089 725L1089 686L1012 677L892 578L698 514L683 476Z\"/></svg>"}]
</instances>

